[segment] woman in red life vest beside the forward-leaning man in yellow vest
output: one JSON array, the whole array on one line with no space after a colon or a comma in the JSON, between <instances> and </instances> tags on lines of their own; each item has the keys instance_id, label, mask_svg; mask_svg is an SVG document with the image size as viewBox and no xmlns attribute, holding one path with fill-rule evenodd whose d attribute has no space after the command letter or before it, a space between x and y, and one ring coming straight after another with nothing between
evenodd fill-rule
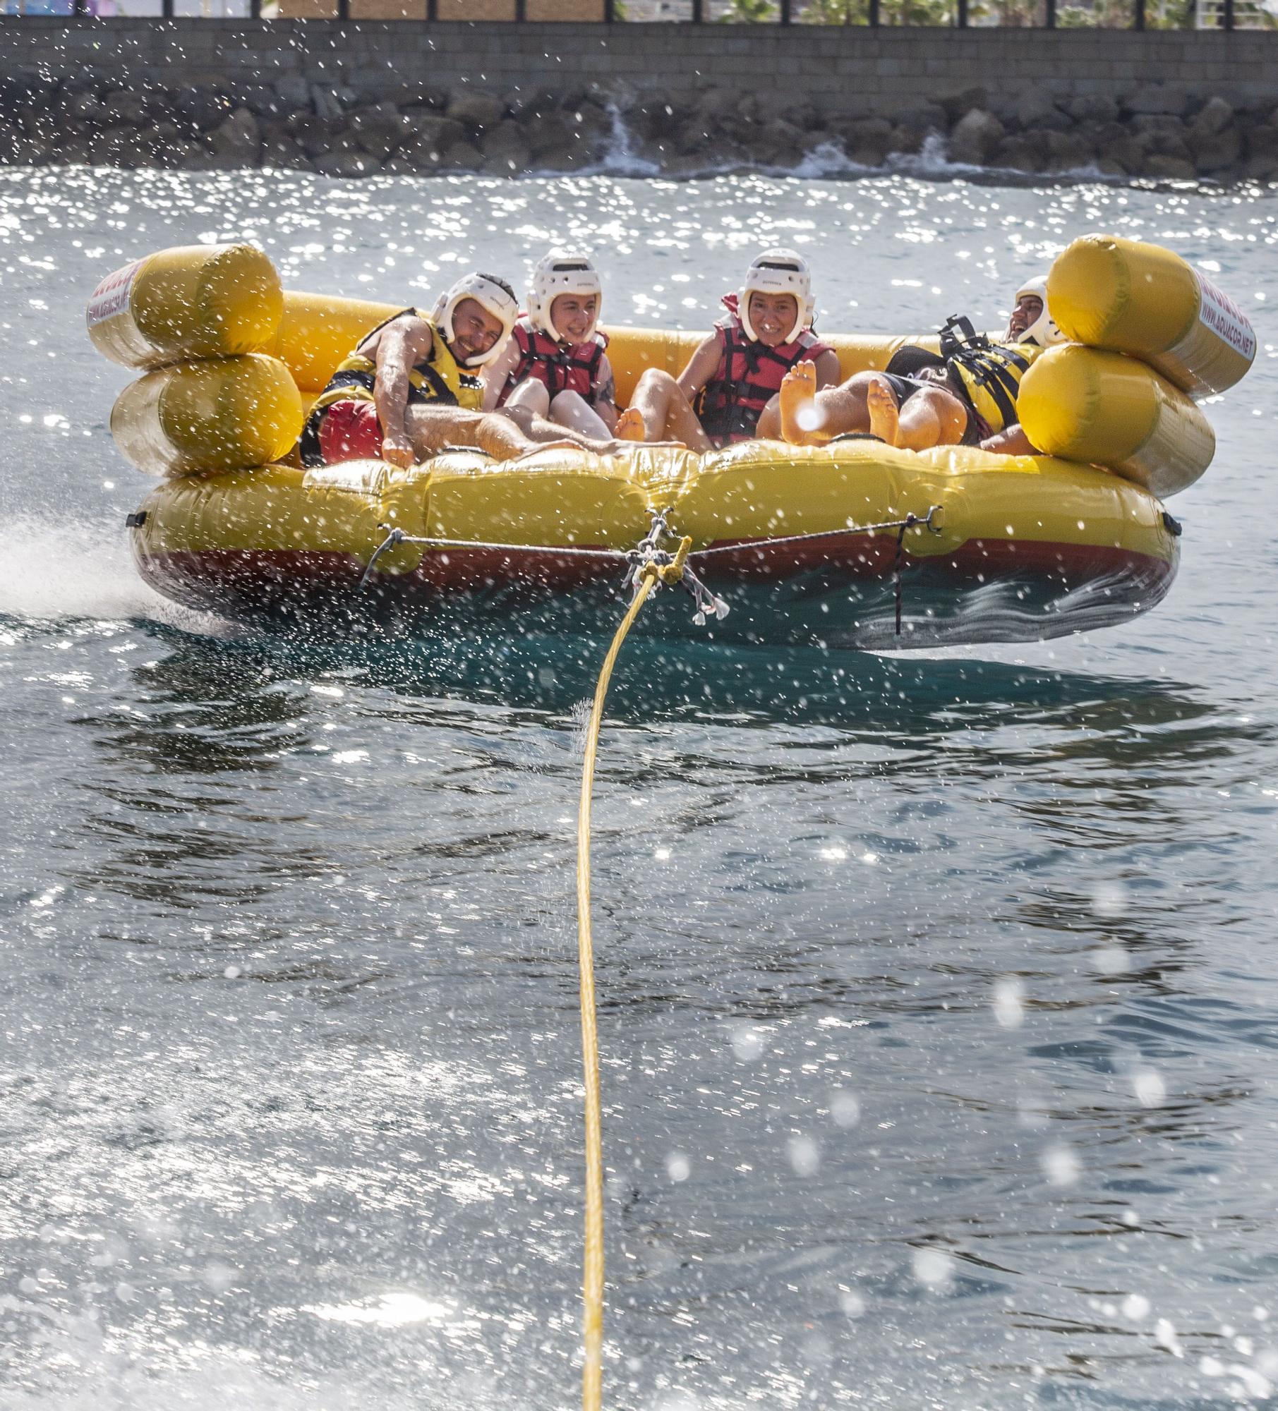
<instances>
[{"instance_id":1,"label":"woman in red life vest beside the forward-leaning man in yellow vest","mask_svg":"<svg viewBox=\"0 0 1278 1411\"><path fill-rule=\"evenodd\" d=\"M608 336L598 329L602 285L590 260L552 250L537 261L528 312L511 341L484 370L484 409L516 420L544 416L584 436L609 437L616 426Z\"/></svg>"}]
</instances>

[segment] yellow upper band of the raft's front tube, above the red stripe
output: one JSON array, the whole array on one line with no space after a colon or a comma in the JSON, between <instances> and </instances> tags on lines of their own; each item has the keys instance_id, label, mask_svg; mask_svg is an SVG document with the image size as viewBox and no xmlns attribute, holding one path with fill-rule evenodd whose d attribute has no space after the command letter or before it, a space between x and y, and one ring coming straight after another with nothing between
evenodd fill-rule
<instances>
[{"instance_id":1,"label":"yellow upper band of the raft's front tube, above the red stripe","mask_svg":"<svg viewBox=\"0 0 1278 1411\"><path fill-rule=\"evenodd\" d=\"M144 505L138 538L157 555L337 552L361 564L385 538L381 525L478 543L625 550L647 531L649 507L660 505L697 553L721 543L820 536L908 512L923 518L934 504L945 514L938 532L910 532L914 559L945 560L970 545L979 546L968 550L978 559L1007 550L1028 559L1035 546L1054 555L1099 547L1164 563L1175 557L1157 501L1104 471L1041 456L992 457L958 447L915 454L873 443L743 444L707 457L640 452L621 459L556 449L505 466L454 452L410 470L381 461L265 466L165 481ZM828 545L813 547L829 552ZM447 579L465 559L460 550L413 545L395 553L398 559L378 560L391 577L425 556Z\"/></svg>"}]
</instances>

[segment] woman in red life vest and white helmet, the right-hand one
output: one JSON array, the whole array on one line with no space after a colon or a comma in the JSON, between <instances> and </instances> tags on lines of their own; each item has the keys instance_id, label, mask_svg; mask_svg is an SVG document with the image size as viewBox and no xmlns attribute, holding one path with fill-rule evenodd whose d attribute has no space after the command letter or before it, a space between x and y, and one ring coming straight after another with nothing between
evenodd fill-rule
<instances>
[{"instance_id":1,"label":"woman in red life vest and white helmet, the right-hand one","mask_svg":"<svg viewBox=\"0 0 1278 1411\"><path fill-rule=\"evenodd\" d=\"M839 360L813 333L813 281L793 250L766 250L742 288L724 298L726 317L677 378L649 368L639 378L616 435L671 436L690 450L780 436L777 394L790 368L811 364L814 384L832 387Z\"/></svg>"}]
</instances>

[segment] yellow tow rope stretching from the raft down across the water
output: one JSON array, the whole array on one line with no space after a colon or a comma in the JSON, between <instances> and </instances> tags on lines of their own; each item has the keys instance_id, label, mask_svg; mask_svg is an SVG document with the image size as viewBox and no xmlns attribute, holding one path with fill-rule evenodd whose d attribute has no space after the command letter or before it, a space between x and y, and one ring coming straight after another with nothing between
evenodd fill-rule
<instances>
[{"instance_id":1,"label":"yellow tow rope stretching from the raft down across the water","mask_svg":"<svg viewBox=\"0 0 1278 1411\"><path fill-rule=\"evenodd\" d=\"M612 646L604 658L595 684L594 706L585 727L585 761L581 766L581 801L577 809L577 958L581 972L581 1062L585 1082L585 1261L581 1278L583 1340L585 1363L581 1369L583 1411L600 1411L604 1387L604 1141L600 1127L600 1031L595 1023L595 958L590 930L590 804L594 794L595 756L600 727L604 722L604 698L612 680L612 667L626 634L639 617L649 593L659 584L674 584L693 540L683 539L673 563L646 563L638 574L635 597L621 619Z\"/></svg>"}]
</instances>

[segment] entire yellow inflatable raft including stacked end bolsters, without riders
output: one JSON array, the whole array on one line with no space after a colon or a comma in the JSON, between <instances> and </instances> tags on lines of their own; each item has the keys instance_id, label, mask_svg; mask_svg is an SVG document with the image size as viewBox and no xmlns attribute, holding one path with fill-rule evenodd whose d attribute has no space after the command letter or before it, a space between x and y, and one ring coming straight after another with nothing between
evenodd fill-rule
<instances>
[{"instance_id":1,"label":"entire yellow inflatable raft including stacked end bolsters, without riders","mask_svg":"<svg viewBox=\"0 0 1278 1411\"><path fill-rule=\"evenodd\" d=\"M1018 404L1048 454L749 442L502 464L450 452L410 470L285 460L309 399L394 305L286 292L260 250L200 246L116 271L87 322L103 354L147 370L111 432L162 477L128 523L142 577L176 602L382 631L602 631L622 556L656 523L671 547L691 539L688 567L731 608L710 624L717 639L860 649L1041 641L1128 621L1168 593L1179 525L1162 498L1215 453L1192 398L1236 384L1255 336L1178 255L1107 236L1058 257L1048 303L1073 341L1035 361ZM608 333L619 404L643 368L677 374L697 341ZM935 347L827 341L844 377L883 368L904 343ZM707 631L678 594L639 629Z\"/></svg>"}]
</instances>

